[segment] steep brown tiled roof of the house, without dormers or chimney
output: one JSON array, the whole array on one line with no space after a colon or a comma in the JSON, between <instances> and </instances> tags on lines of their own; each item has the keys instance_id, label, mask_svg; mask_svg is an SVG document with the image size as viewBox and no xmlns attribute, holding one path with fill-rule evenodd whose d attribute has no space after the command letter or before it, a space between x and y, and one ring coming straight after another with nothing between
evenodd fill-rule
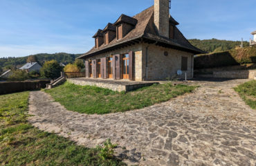
<instances>
[{"instance_id":1,"label":"steep brown tiled roof of the house, without dormers or chimney","mask_svg":"<svg viewBox=\"0 0 256 166\"><path fill-rule=\"evenodd\" d=\"M135 39L149 39L152 41L160 42L161 44L166 44L167 46L170 46L172 48L185 50L194 54L199 53L205 53L203 50L200 50L199 48L196 48L188 42L187 39L183 36L183 34L179 31L178 28L175 28L175 34L174 39L169 39L166 37L161 37L156 32L156 29L154 28L154 6L147 8L146 10L143 10L143 12L140 12L138 15L135 15L133 17L138 22L133 30L131 30L125 37L122 39L113 39L109 44L95 48L91 48L87 53L84 53L78 58L84 59L85 57L91 57L93 55L98 55L100 53L104 53L104 51L107 51L115 46L118 46L120 44L125 44L126 42L131 42ZM170 22L177 25L179 24L177 21L175 21L172 17L170 17Z\"/></svg>"}]
</instances>

